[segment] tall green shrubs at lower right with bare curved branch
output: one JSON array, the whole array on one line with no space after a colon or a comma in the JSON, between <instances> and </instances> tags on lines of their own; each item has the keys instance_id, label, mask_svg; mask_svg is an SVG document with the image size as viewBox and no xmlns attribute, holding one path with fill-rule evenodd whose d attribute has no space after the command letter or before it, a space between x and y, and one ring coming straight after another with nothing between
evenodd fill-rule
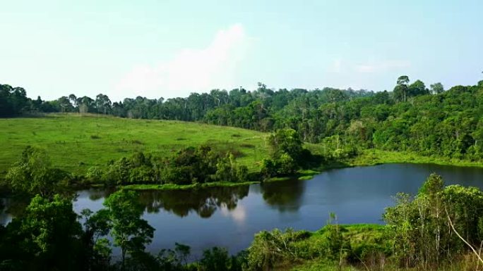
<instances>
[{"instance_id":1,"label":"tall green shrubs at lower right with bare curved branch","mask_svg":"<svg viewBox=\"0 0 483 271\"><path fill-rule=\"evenodd\" d=\"M429 176L415 198L399 194L396 206L387 208L384 214L395 257L406 267L424 268L467 250L450 221L465 240L479 247L482 217L482 191L459 185L443 187L443 180L436 174Z\"/></svg>"}]
</instances>

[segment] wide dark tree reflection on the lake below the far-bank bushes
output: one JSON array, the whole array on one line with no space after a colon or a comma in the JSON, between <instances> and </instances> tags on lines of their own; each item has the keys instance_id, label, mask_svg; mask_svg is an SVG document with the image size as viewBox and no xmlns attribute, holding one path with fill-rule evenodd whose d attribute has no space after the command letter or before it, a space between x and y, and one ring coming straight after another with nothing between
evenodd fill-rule
<instances>
[{"instance_id":1,"label":"wide dark tree reflection on the lake below the far-bank bushes","mask_svg":"<svg viewBox=\"0 0 483 271\"><path fill-rule=\"evenodd\" d=\"M234 210L241 198L249 194L249 186L210 187L174 191L141 191L140 200L148 213L167 210L180 217L196 212L201 218L210 218L218 208Z\"/></svg>"}]
</instances>

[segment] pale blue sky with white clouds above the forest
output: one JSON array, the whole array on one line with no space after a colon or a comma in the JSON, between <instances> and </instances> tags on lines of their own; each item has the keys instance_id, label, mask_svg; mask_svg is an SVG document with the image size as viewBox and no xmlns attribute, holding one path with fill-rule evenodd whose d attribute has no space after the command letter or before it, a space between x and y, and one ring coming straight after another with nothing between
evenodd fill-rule
<instances>
[{"instance_id":1,"label":"pale blue sky with white clouds above the forest","mask_svg":"<svg viewBox=\"0 0 483 271\"><path fill-rule=\"evenodd\" d=\"M52 100L483 80L483 1L0 0L0 84Z\"/></svg>"}]
</instances>

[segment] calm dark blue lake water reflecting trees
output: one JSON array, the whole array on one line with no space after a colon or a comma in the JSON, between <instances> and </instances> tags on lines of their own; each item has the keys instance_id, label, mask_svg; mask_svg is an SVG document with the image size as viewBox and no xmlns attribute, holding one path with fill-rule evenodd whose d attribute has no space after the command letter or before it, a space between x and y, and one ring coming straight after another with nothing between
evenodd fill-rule
<instances>
[{"instance_id":1,"label":"calm dark blue lake water reflecting trees","mask_svg":"<svg viewBox=\"0 0 483 271\"><path fill-rule=\"evenodd\" d=\"M483 188L483 168L387 164L329 170L307 181L273 182L196 191L145 191L144 218L155 231L148 251L191 246L194 257L212 246L247 248L256 232L275 227L316 230L330 212L340 223L380 223L398 192L416 194L432 172L446 184ZM99 210L107 191L79 191L74 208ZM1 217L1 216L0 216Z\"/></svg>"}]
</instances>

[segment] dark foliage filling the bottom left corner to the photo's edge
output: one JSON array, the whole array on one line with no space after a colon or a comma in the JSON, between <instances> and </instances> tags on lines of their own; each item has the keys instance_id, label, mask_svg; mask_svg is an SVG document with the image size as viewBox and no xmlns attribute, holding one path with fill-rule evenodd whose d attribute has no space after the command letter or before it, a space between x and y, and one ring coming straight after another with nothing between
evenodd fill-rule
<instances>
[{"instance_id":1,"label":"dark foliage filling the bottom left corner to the photo's edge","mask_svg":"<svg viewBox=\"0 0 483 271\"><path fill-rule=\"evenodd\" d=\"M82 229L71 198L35 196L0 230L2 270L83 270Z\"/></svg>"}]
</instances>

